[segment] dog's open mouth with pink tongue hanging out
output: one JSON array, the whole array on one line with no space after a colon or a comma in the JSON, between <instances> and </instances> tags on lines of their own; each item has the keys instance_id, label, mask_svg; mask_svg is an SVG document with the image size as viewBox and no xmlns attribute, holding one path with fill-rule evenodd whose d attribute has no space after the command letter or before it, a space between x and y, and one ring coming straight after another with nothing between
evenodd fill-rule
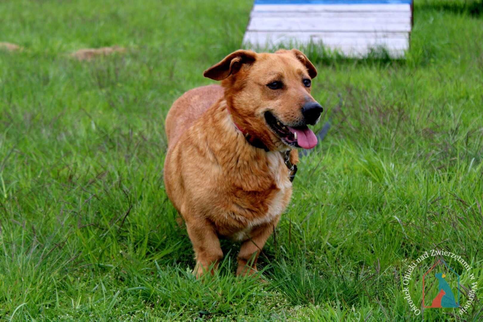
<instances>
[{"instance_id":1,"label":"dog's open mouth with pink tongue hanging out","mask_svg":"<svg viewBox=\"0 0 483 322\"><path fill-rule=\"evenodd\" d=\"M317 144L317 137L306 125L286 126L270 111L265 112L265 121L285 144L304 149L312 149Z\"/></svg>"}]
</instances>

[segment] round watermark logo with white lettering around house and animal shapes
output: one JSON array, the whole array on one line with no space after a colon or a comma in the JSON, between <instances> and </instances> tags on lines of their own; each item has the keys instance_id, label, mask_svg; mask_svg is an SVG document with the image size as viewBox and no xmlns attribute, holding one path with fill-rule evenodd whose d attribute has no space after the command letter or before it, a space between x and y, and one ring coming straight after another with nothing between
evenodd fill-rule
<instances>
[{"instance_id":1,"label":"round watermark logo with white lettering around house and animal shapes","mask_svg":"<svg viewBox=\"0 0 483 322\"><path fill-rule=\"evenodd\" d=\"M422 309L433 308L456 308L463 315L471 307L478 289L471 268L463 257L453 252L424 252L405 268L404 299L415 315L420 315ZM469 282L468 300L464 303L460 303L462 276Z\"/></svg>"}]
</instances>

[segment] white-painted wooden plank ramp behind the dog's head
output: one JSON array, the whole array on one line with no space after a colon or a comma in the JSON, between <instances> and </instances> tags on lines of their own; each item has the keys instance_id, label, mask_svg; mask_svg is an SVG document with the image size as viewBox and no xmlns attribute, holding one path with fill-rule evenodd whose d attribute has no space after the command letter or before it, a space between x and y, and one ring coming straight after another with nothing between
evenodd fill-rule
<instances>
[{"instance_id":1,"label":"white-painted wooden plank ramp behind the dog's head","mask_svg":"<svg viewBox=\"0 0 483 322\"><path fill-rule=\"evenodd\" d=\"M412 0L255 0L243 44L314 43L350 57L384 50L401 58L411 28Z\"/></svg>"}]
</instances>

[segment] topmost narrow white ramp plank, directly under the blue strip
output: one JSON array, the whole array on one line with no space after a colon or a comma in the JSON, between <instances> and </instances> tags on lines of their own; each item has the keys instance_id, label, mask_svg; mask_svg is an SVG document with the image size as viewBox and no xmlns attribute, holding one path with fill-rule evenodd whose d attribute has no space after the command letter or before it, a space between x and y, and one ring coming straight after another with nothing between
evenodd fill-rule
<instances>
[{"instance_id":1,"label":"topmost narrow white ramp plank, directly under the blue strip","mask_svg":"<svg viewBox=\"0 0 483 322\"><path fill-rule=\"evenodd\" d=\"M410 4L255 4L253 12L410 12Z\"/></svg>"}]
</instances>

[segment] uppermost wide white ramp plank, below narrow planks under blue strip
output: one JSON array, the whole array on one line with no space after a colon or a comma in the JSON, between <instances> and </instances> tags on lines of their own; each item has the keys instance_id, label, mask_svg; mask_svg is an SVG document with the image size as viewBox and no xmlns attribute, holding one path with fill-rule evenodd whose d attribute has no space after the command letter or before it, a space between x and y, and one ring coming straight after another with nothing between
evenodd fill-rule
<instances>
[{"instance_id":1,"label":"uppermost wide white ramp plank, below narrow planks under blue strip","mask_svg":"<svg viewBox=\"0 0 483 322\"><path fill-rule=\"evenodd\" d=\"M377 19L253 18L249 31L411 31L411 21L379 22Z\"/></svg>"}]
</instances>

